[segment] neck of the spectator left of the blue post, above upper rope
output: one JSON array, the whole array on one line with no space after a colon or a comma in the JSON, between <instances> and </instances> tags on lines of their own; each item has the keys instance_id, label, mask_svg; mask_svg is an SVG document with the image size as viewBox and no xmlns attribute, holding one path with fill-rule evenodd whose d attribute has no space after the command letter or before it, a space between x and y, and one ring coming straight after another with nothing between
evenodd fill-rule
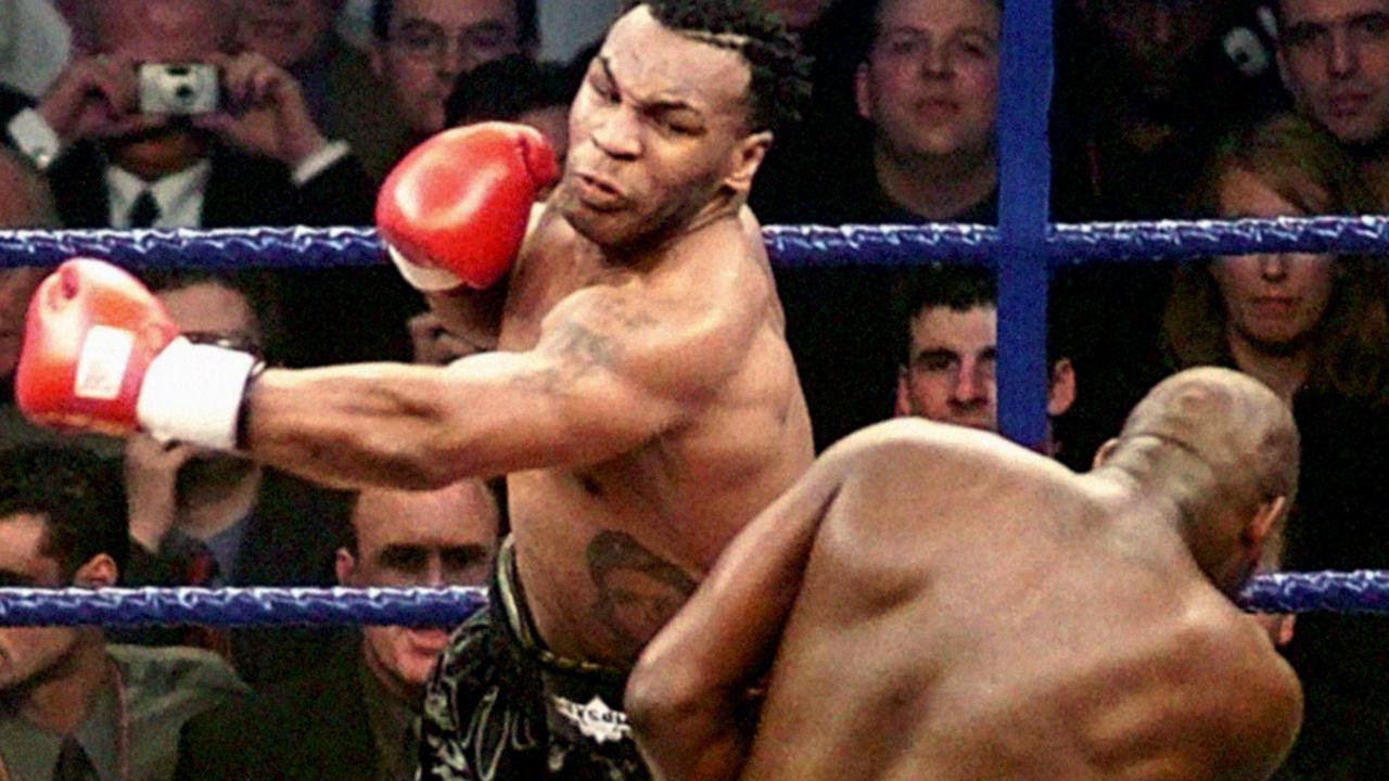
<instances>
[{"instance_id":1,"label":"neck of the spectator left of the blue post, above upper rope","mask_svg":"<svg viewBox=\"0 0 1389 781\"><path fill-rule=\"evenodd\" d=\"M982 156L904 156L874 145L878 183L895 203L926 220L950 220L988 199L999 186L993 150Z\"/></svg>"}]
</instances>

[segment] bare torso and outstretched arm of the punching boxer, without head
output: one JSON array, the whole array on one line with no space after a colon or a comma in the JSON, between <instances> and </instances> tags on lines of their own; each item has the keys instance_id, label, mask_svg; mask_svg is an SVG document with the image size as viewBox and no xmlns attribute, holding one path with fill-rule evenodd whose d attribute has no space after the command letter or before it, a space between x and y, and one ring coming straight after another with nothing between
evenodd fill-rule
<instances>
[{"instance_id":1,"label":"bare torso and outstretched arm of the punching boxer, without head","mask_svg":"<svg viewBox=\"0 0 1389 781\"><path fill-rule=\"evenodd\" d=\"M447 368L268 371L250 452L336 484L508 474L518 567L557 653L631 664L589 546L689 574L808 467L810 422L750 214L613 267L547 213L513 275L499 352ZM657 584L664 581L657 581ZM669 616L665 616L668 618Z\"/></svg>"}]
</instances>

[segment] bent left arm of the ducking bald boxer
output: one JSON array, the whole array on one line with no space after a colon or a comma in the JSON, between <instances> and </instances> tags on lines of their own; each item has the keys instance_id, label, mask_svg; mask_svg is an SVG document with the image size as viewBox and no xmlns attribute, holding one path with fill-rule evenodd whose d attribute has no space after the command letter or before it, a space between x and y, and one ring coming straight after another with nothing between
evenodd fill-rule
<instances>
[{"instance_id":1,"label":"bent left arm of the ducking bald boxer","mask_svg":"<svg viewBox=\"0 0 1389 781\"><path fill-rule=\"evenodd\" d=\"M625 707L657 781L738 777L751 738L742 710L775 656L840 464L826 453L749 524L642 653Z\"/></svg>"}]
</instances>

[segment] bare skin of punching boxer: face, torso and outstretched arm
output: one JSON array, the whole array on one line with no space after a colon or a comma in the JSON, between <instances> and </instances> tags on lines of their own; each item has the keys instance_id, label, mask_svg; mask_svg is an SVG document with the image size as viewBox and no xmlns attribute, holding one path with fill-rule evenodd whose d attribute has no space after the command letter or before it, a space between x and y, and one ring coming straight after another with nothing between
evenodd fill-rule
<instances>
[{"instance_id":1,"label":"bare skin of punching boxer: face, torso and outstretched arm","mask_svg":"<svg viewBox=\"0 0 1389 781\"><path fill-rule=\"evenodd\" d=\"M771 133L747 63L639 7L569 120L564 178L501 285L433 295L496 350L446 368L267 371L244 445L329 484L507 475L517 566L556 653L628 667L813 460L756 218Z\"/></svg>"}]
</instances>

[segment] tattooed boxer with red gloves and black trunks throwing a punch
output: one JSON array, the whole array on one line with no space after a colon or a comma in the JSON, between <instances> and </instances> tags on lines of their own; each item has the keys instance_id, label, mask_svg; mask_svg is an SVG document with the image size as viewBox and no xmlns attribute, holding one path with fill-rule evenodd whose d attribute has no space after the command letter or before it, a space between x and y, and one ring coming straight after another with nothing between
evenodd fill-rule
<instances>
[{"instance_id":1,"label":"tattooed boxer with red gloves and black trunks throwing a punch","mask_svg":"<svg viewBox=\"0 0 1389 781\"><path fill-rule=\"evenodd\" d=\"M626 670L813 460L745 207L803 83L795 51L756 3L635 4L589 68L533 220L556 175L539 133L475 125L411 153L381 232L444 324L494 352L258 372L178 338L124 272L72 261L35 296L19 402L333 485L508 474L514 542L492 611L431 684L422 777L640 777Z\"/></svg>"}]
</instances>

